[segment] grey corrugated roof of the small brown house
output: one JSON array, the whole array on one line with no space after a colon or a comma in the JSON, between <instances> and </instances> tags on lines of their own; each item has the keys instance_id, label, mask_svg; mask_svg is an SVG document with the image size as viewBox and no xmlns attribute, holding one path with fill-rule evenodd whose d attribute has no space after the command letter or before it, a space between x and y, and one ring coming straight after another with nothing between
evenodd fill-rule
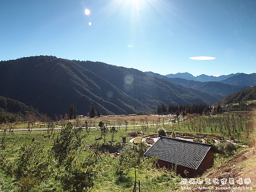
<instances>
[{"instance_id":1,"label":"grey corrugated roof of the small brown house","mask_svg":"<svg viewBox=\"0 0 256 192\"><path fill-rule=\"evenodd\" d=\"M160 160L191 169L198 169L211 147L212 145L206 143L161 136L144 155L158 157Z\"/></svg>"}]
</instances>

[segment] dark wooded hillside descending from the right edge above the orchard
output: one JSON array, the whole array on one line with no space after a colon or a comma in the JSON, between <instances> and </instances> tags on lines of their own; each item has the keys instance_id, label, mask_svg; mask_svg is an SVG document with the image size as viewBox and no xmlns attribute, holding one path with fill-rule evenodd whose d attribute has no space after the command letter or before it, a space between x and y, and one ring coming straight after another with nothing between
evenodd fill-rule
<instances>
[{"instance_id":1,"label":"dark wooded hillside descending from the right edge above the orchard","mask_svg":"<svg viewBox=\"0 0 256 192\"><path fill-rule=\"evenodd\" d=\"M246 102L250 100L256 100L256 86L249 87L241 90L238 93L225 96L223 99L218 101L218 104L227 105L232 103Z\"/></svg>"}]
</instances>

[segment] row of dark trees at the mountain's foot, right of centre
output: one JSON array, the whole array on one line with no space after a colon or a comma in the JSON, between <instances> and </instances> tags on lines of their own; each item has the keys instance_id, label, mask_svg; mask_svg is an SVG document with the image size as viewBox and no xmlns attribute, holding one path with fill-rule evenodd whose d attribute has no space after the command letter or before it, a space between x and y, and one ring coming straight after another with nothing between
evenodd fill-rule
<instances>
[{"instance_id":1,"label":"row of dark trees at the mountain's foot, right of centre","mask_svg":"<svg viewBox=\"0 0 256 192\"><path fill-rule=\"evenodd\" d=\"M200 105L158 105L157 106L157 114L159 115L165 115L165 114L209 114L209 113L222 113L221 105L218 105L216 107L212 107L205 104Z\"/></svg>"}]
</instances>

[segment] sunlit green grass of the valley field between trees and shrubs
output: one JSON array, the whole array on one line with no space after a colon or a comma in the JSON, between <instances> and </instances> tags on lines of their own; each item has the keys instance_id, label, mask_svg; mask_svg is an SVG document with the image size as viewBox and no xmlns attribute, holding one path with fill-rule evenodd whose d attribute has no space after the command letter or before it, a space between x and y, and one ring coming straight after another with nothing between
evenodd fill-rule
<instances>
[{"instance_id":1,"label":"sunlit green grass of the valley field between trees and shrubs","mask_svg":"<svg viewBox=\"0 0 256 192\"><path fill-rule=\"evenodd\" d=\"M207 121L208 116L202 117L205 121ZM218 118L218 116L213 116L211 118ZM202 119L201 119L202 120ZM252 121L253 119L246 119L249 121ZM73 121L74 122L74 121ZM96 121L95 123L98 123L99 121ZM165 122L169 122L168 119L166 119ZM137 121L137 123L140 125L140 122ZM156 134L157 129L160 127L164 127L169 134L175 133L175 135L182 135L183 136L189 136L189 137L196 137L196 136L204 136L205 138L227 138L227 139L234 139L241 141L241 144L247 144L250 141L250 137L246 137L245 127L244 131L238 131L237 133L228 134L228 131L223 128L223 132L221 133L219 130L220 128L217 126L216 129L213 127L211 131L211 128L207 123L205 123L205 127L201 128L200 131L195 131L195 129L192 129L191 127L188 128L187 121L179 122L170 124L170 125L154 125L149 126L147 128L146 132L142 132L142 129L140 127L128 127L126 128L120 128L119 131L117 131L114 134L113 143L122 143L122 137L126 137L126 141L131 139L129 136L129 132L131 131L138 131L140 132L139 136L146 137L150 134ZM245 122L243 122L245 123ZM115 124L116 125L116 124ZM128 125L131 125L131 122L129 122ZM20 127L25 126L25 123L20 125ZM190 125L191 126L191 125ZM238 126L238 125L237 125ZM245 126L245 125L244 125ZM6 132L6 138L4 140L6 148L0 148L0 154L3 157L5 157L15 162L18 155L20 154L20 146L25 142L30 142L32 140L38 141L41 143L42 146L44 146L44 151L50 150L53 146L53 137L56 137L59 131L53 131L53 134L47 133L47 131L32 131L31 134L29 134L28 131L17 131L14 132L14 134L9 134L9 132ZM103 143L103 138L100 137L101 132L97 129L91 129L89 134L85 130L81 132L81 148L86 147L87 145L91 145L93 143ZM3 137L3 132L0 132L0 138ZM197 138L198 139L198 138ZM200 139L200 138L199 138ZM109 143L111 141L111 133L108 131L106 135L106 141ZM239 149L241 150L241 149ZM81 157L88 154L88 151L82 151ZM117 170L117 164L118 164L118 158L113 157L113 155L109 153L101 154L102 160L99 160L100 164L100 171L99 174L94 181L93 188L90 188L88 191L90 192L126 192L126 191L132 191L133 189L133 182L134 182L134 171L130 171L127 175L127 179L125 181L119 181L118 177L116 175ZM226 158L226 157L225 157ZM216 155L215 158L215 164L221 164L225 161L225 158ZM140 187L141 191L147 191L147 192L155 192L155 191L180 191L180 177L175 175L173 172L169 172L166 169L157 169L154 168L150 163L144 164L140 167L140 169L137 172L137 180L140 180ZM0 169L0 191L9 192L9 191L18 191L19 188L15 183L15 177L12 175L8 175L5 172L3 172L2 169ZM44 183L45 184L45 183ZM61 191L61 187L59 186L59 183L55 183L54 178L51 178L48 183L46 183L47 187L45 189L51 189L50 186L55 186L54 189L57 191ZM59 186L59 187L58 187ZM44 186L41 186L40 189L43 189ZM53 189L52 188L52 189ZM137 186L138 189L138 186ZM47 191L47 190L46 190Z\"/></svg>"}]
</instances>

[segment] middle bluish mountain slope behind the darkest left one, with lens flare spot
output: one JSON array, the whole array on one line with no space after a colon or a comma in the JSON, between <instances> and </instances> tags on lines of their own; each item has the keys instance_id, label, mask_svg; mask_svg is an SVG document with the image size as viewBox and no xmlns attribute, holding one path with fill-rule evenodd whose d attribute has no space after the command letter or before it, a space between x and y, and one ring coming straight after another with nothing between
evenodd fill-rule
<instances>
[{"instance_id":1,"label":"middle bluish mountain slope behind the darkest left one, with lens flare spot","mask_svg":"<svg viewBox=\"0 0 256 192\"><path fill-rule=\"evenodd\" d=\"M190 89L163 79L148 76L139 70L117 67L101 62L81 61L79 64L101 76L129 96L154 109L160 103L165 103L166 105L171 103L190 105L193 103L211 103L213 100L218 99L209 94L208 99L204 99L203 96L200 96L200 94L203 94L201 92L194 93Z\"/></svg>"}]
</instances>

